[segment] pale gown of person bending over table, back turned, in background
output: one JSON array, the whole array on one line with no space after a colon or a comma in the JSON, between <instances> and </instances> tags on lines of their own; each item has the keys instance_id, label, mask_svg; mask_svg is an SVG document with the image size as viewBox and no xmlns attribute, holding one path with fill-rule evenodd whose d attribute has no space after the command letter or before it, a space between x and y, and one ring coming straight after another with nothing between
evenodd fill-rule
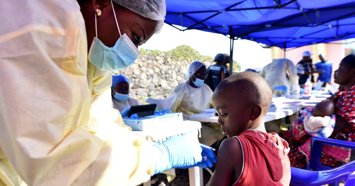
<instances>
[{"instance_id":1,"label":"pale gown of person bending over table, back turned, in background","mask_svg":"<svg viewBox=\"0 0 355 186\"><path fill-rule=\"evenodd\" d=\"M288 59L275 59L271 63L267 64L260 75L265 78L274 96L280 96L281 94L289 94L289 92L276 91L275 86L286 85L289 87L289 83L286 80L286 71L290 79L291 87L294 84L298 84L297 68L292 61Z\"/></svg>"}]
</instances>

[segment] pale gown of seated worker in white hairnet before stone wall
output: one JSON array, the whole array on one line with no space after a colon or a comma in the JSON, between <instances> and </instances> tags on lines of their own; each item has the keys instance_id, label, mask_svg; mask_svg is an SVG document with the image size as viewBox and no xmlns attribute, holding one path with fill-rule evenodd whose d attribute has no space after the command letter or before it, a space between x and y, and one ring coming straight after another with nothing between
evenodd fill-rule
<instances>
[{"instance_id":1,"label":"pale gown of seated worker in white hairnet before stone wall","mask_svg":"<svg viewBox=\"0 0 355 186\"><path fill-rule=\"evenodd\" d=\"M190 115L202 113L203 110L212 107L213 92L206 84L199 88L194 88L186 81L170 92L170 95L173 94L176 94L176 97L170 110L172 112L182 112L184 119L189 119Z\"/></svg>"}]
</instances>

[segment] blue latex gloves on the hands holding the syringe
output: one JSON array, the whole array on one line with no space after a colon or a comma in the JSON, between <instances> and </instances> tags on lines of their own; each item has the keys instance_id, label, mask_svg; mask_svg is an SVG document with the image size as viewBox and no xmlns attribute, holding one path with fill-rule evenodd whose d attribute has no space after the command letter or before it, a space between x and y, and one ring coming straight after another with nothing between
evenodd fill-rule
<instances>
[{"instance_id":1,"label":"blue latex gloves on the hands holding the syringe","mask_svg":"<svg viewBox=\"0 0 355 186\"><path fill-rule=\"evenodd\" d=\"M195 133L173 136L162 143L152 143L155 158L154 174L173 168L212 167L216 156L198 143Z\"/></svg>"}]
</instances>

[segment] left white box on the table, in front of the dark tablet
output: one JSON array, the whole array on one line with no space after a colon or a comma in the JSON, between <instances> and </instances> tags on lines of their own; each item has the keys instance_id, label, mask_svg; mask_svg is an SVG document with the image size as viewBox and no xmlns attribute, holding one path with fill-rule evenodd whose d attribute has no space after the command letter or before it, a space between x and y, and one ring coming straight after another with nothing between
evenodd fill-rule
<instances>
[{"instance_id":1,"label":"left white box on the table, in front of the dark tablet","mask_svg":"<svg viewBox=\"0 0 355 186\"><path fill-rule=\"evenodd\" d=\"M151 128L155 128L155 126L158 124L158 119L157 118L138 118L138 119L129 119L129 118L123 118L123 122L130 126L132 130L147 130Z\"/></svg>"}]
</instances>

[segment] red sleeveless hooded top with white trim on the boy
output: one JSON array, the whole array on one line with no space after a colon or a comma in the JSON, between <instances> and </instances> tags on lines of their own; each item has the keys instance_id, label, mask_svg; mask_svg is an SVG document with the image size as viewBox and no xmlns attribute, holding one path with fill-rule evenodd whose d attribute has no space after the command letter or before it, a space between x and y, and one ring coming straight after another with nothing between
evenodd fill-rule
<instances>
[{"instance_id":1,"label":"red sleeveless hooded top with white trim on the boy","mask_svg":"<svg viewBox=\"0 0 355 186\"><path fill-rule=\"evenodd\" d=\"M248 129L239 136L243 169L233 186L289 185L291 180L288 143L276 133Z\"/></svg>"}]
</instances>

